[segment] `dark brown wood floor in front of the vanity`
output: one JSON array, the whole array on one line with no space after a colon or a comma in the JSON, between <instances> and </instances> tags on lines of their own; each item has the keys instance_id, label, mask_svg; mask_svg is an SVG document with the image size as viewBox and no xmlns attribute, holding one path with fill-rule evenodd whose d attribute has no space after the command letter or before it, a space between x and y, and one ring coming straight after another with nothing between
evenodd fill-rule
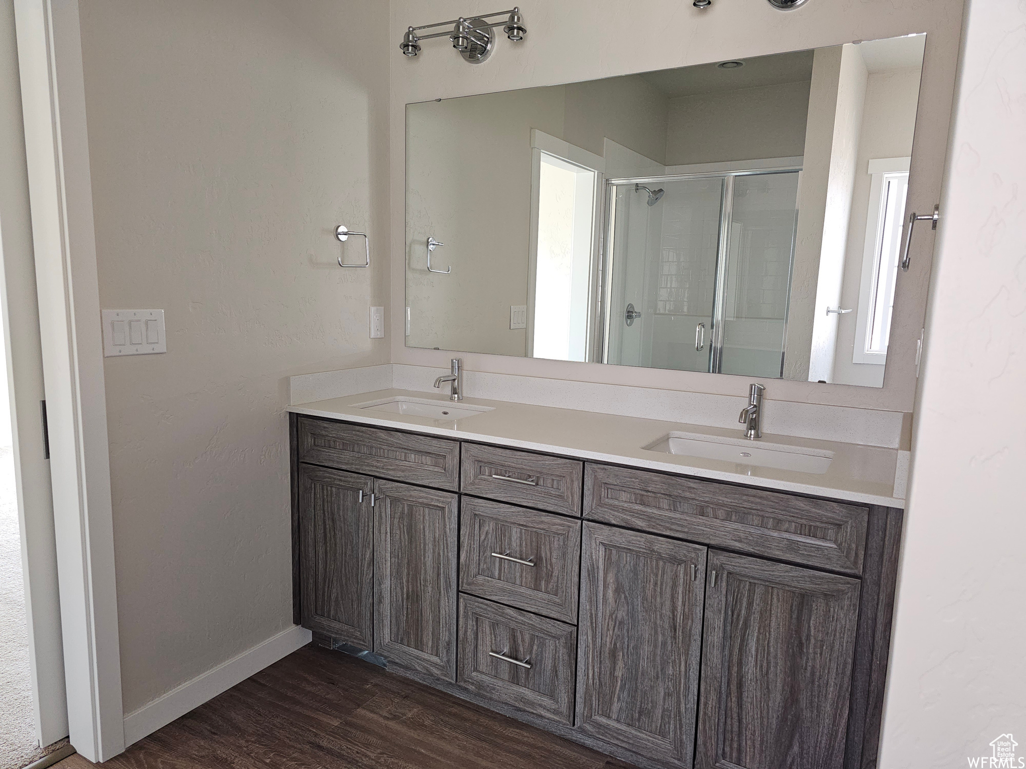
<instances>
[{"instance_id":1,"label":"dark brown wood floor in front of the vanity","mask_svg":"<svg viewBox=\"0 0 1026 769\"><path fill-rule=\"evenodd\" d=\"M96 766L73 756L61 769ZM103 764L111 769L628 769L338 651L306 646Z\"/></svg>"}]
</instances>

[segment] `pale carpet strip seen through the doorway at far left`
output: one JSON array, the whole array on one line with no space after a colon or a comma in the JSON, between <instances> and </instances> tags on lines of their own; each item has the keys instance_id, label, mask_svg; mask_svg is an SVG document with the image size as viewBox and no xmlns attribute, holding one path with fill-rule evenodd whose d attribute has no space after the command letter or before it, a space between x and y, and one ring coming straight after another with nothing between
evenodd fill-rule
<instances>
[{"instance_id":1,"label":"pale carpet strip seen through the doorway at far left","mask_svg":"<svg viewBox=\"0 0 1026 769\"><path fill-rule=\"evenodd\" d=\"M22 769L64 743L40 748L32 717L22 539L10 446L0 448L0 769Z\"/></svg>"}]
</instances>

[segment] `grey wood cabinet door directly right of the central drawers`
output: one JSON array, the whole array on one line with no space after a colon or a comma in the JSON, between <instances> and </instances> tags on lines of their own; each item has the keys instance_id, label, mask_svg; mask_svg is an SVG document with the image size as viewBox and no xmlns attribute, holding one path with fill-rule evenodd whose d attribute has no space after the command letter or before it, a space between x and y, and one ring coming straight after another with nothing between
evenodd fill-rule
<instances>
[{"instance_id":1,"label":"grey wood cabinet door directly right of the central drawers","mask_svg":"<svg viewBox=\"0 0 1026 769\"><path fill-rule=\"evenodd\" d=\"M695 745L706 549L585 523L578 727L667 767Z\"/></svg>"}]
</instances>

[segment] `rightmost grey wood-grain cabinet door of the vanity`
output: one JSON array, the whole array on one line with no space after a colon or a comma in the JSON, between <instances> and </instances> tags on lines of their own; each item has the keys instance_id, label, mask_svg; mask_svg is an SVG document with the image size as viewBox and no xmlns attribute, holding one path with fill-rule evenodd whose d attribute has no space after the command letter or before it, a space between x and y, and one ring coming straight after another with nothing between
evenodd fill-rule
<instances>
[{"instance_id":1,"label":"rightmost grey wood-grain cabinet door of the vanity","mask_svg":"<svg viewBox=\"0 0 1026 769\"><path fill-rule=\"evenodd\" d=\"M712 551L699 769L840 769L857 579Z\"/></svg>"}]
</instances>

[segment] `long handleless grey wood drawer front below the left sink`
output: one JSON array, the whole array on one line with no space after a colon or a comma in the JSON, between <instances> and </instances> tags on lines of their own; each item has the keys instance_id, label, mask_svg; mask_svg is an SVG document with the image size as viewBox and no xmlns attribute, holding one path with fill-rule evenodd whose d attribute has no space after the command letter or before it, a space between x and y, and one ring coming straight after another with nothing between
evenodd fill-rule
<instances>
[{"instance_id":1,"label":"long handleless grey wood drawer front below the left sink","mask_svg":"<svg viewBox=\"0 0 1026 769\"><path fill-rule=\"evenodd\" d=\"M300 461L457 490L460 444L359 424L300 419Z\"/></svg>"}]
</instances>

